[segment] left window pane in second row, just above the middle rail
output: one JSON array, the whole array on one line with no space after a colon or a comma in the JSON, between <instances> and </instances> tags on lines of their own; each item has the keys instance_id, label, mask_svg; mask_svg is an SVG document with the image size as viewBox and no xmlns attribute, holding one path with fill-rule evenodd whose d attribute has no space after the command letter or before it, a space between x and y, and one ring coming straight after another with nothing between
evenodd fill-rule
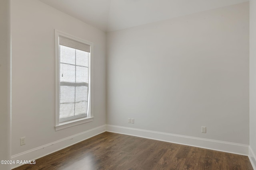
<instances>
[{"instance_id":1,"label":"left window pane in second row, just above the middle rail","mask_svg":"<svg viewBox=\"0 0 256 170\"><path fill-rule=\"evenodd\" d=\"M69 64L60 64L60 82L75 82L76 66Z\"/></svg>"}]
</instances>

